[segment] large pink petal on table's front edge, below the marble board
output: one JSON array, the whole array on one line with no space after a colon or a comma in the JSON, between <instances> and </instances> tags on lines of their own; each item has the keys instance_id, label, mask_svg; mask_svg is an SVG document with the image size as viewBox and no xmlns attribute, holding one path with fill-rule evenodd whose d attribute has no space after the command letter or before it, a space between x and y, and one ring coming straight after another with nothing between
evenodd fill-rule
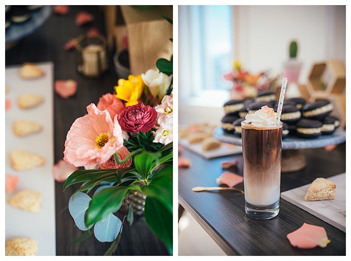
<instances>
[{"instance_id":1,"label":"large pink petal on table's front edge, below the marble board","mask_svg":"<svg viewBox=\"0 0 351 261\"><path fill-rule=\"evenodd\" d=\"M300 229L286 235L290 244L298 248L326 247L330 240L324 227L304 223Z\"/></svg>"}]
</instances>

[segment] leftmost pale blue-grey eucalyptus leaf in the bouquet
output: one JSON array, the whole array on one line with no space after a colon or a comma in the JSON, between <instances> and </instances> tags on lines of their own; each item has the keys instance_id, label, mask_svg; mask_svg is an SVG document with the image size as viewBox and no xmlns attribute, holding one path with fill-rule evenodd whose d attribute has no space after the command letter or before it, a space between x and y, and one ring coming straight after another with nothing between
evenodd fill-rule
<instances>
[{"instance_id":1,"label":"leftmost pale blue-grey eucalyptus leaf in the bouquet","mask_svg":"<svg viewBox=\"0 0 351 261\"><path fill-rule=\"evenodd\" d=\"M89 195L83 192L78 192L73 194L68 202L68 210L73 217L76 226L82 231L89 230L93 226L93 224L86 226L84 223L84 215L91 200L92 199Z\"/></svg>"}]
</instances>

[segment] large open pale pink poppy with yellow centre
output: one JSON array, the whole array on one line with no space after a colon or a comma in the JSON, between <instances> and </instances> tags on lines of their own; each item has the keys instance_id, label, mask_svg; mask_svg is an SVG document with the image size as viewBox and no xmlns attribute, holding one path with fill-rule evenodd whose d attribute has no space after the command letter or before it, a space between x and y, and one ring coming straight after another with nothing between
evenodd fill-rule
<instances>
[{"instance_id":1,"label":"large open pale pink poppy with yellow centre","mask_svg":"<svg viewBox=\"0 0 351 261\"><path fill-rule=\"evenodd\" d=\"M123 146L122 129L107 110L95 104L86 107L88 114L76 119L67 134L64 160L81 167L103 164Z\"/></svg>"}]
</instances>

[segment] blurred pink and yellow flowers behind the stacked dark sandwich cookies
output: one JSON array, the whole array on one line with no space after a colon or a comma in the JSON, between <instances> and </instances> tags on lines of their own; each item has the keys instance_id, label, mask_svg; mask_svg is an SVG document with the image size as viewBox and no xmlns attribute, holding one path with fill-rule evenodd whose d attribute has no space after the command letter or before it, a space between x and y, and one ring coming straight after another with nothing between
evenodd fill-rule
<instances>
[{"instance_id":1,"label":"blurred pink and yellow flowers behind the stacked dark sandwich cookies","mask_svg":"<svg viewBox=\"0 0 351 261\"><path fill-rule=\"evenodd\" d=\"M274 89L278 76L270 72L251 74L242 69L239 60L235 60L232 71L224 74L223 79L233 83L230 99L246 99L255 97L258 91Z\"/></svg>"}]
</instances>

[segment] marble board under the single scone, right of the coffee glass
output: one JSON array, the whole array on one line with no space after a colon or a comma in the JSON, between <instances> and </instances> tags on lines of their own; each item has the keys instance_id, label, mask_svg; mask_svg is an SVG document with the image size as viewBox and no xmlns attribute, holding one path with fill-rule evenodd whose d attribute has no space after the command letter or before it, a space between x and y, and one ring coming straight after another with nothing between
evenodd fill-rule
<instances>
[{"instance_id":1,"label":"marble board under the single scone, right of the coffee glass","mask_svg":"<svg viewBox=\"0 0 351 261\"><path fill-rule=\"evenodd\" d=\"M346 233L346 173L328 179L336 184L334 200L305 201L310 184L284 191L280 197Z\"/></svg>"}]
</instances>

